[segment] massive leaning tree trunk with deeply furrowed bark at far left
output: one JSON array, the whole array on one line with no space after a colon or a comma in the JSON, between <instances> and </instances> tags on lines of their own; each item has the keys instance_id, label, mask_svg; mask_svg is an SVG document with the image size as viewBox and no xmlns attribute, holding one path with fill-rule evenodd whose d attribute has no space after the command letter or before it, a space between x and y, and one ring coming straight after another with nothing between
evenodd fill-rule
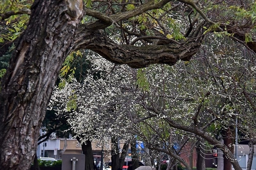
<instances>
[{"instance_id":1,"label":"massive leaning tree trunk with deeply furrowed bark at far left","mask_svg":"<svg viewBox=\"0 0 256 170\"><path fill-rule=\"evenodd\" d=\"M0 169L30 167L47 103L82 9L82 0L36 0L32 5L28 27L1 83Z\"/></svg>"}]
</instances>

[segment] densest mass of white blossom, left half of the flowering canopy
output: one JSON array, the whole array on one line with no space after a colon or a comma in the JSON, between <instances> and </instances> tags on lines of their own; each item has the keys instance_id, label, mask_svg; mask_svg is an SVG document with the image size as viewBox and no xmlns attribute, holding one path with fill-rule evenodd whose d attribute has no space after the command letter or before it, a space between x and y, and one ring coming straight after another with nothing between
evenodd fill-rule
<instances>
[{"instance_id":1,"label":"densest mass of white blossom, left half of the flowering canopy","mask_svg":"<svg viewBox=\"0 0 256 170\"><path fill-rule=\"evenodd\" d=\"M49 109L59 116L66 116L72 131L83 141L94 140L108 143L109 137L127 136L133 107L132 69L125 65L114 65L99 56L87 56L91 68L84 81L76 80L61 91L55 87ZM117 74L118 73L118 74ZM76 95L75 110L67 111L67 103Z\"/></svg>"}]
</instances>

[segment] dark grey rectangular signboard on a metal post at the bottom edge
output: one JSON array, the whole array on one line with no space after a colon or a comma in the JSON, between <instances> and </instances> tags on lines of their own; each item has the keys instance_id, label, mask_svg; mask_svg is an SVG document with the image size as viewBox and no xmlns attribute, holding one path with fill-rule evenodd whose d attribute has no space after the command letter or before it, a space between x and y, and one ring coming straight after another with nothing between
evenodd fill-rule
<instances>
[{"instance_id":1,"label":"dark grey rectangular signboard on a metal post at the bottom edge","mask_svg":"<svg viewBox=\"0 0 256 170\"><path fill-rule=\"evenodd\" d=\"M75 169L73 168L75 166ZM84 170L84 154L63 154L61 170Z\"/></svg>"}]
</instances>

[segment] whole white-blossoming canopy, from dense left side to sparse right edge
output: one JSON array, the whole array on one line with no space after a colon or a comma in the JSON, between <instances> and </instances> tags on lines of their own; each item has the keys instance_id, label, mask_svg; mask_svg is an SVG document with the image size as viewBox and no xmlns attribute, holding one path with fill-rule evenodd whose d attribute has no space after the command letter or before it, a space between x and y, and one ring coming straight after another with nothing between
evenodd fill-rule
<instances>
[{"instance_id":1,"label":"whole white-blossoming canopy, from dense left side to sparse right edge","mask_svg":"<svg viewBox=\"0 0 256 170\"><path fill-rule=\"evenodd\" d=\"M213 135L220 128L234 126L238 116L240 129L255 136L254 131L245 130L254 125L248 121L253 108L244 94L246 91L255 103L255 62L230 45L234 42L216 44L212 42L215 38L211 37L189 62L143 69L148 91L136 86L136 70L87 56L91 68L84 81L74 81L62 91L55 88L49 107L67 117L76 135L98 143L108 143L111 137L132 138L132 134L156 144L161 143L156 141L159 135L167 141L177 134L184 139L185 134L171 129L166 118L189 127L195 122L197 127L211 122L213 128L205 130ZM73 94L77 95L77 109L67 112ZM156 117L144 119L152 114Z\"/></svg>"}]
</instances>

